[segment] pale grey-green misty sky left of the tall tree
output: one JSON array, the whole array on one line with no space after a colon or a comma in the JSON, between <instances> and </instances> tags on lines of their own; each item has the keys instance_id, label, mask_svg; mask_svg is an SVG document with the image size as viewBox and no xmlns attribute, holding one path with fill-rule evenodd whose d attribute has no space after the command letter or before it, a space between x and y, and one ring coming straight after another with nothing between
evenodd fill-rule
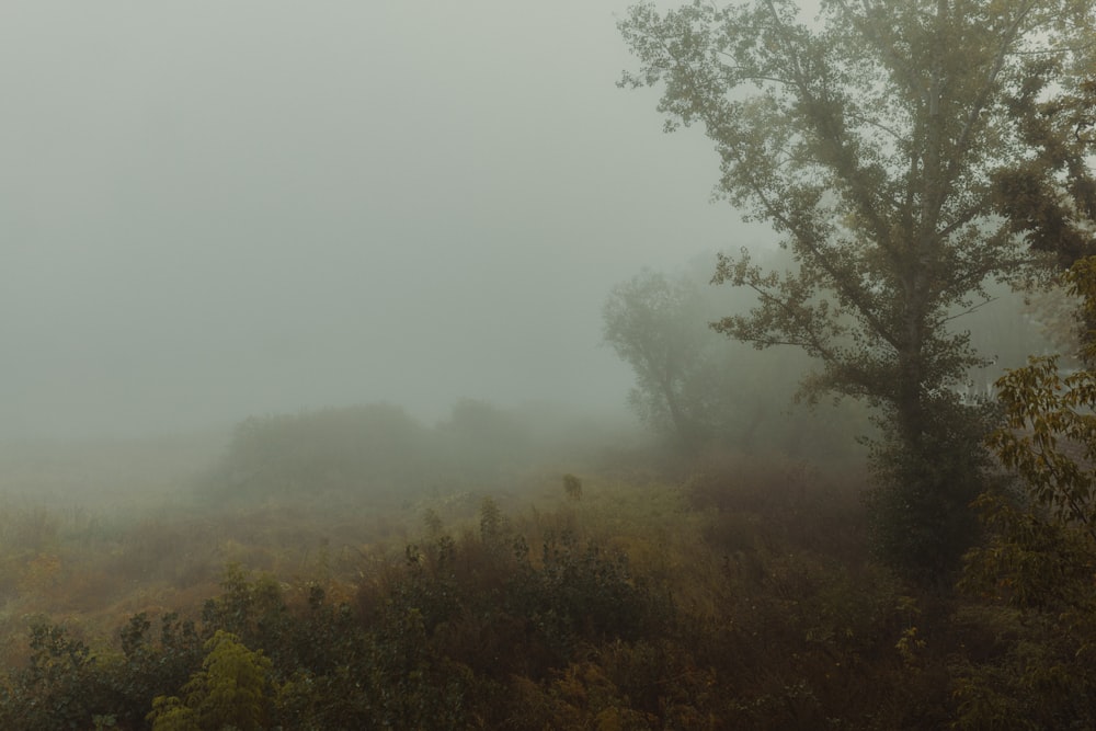
<instances>
[{"instance_id":1,"label":"pale grey-green misty sky left of the tall tree","mask_svg":"<svg viewBox=\"0 0 1096 731\"><path fill-rule=\"evenodd\" d=\"M0 436L620 403L609 287L753 237L627 2L0 11Z\"/></svg>"}]
</instances>

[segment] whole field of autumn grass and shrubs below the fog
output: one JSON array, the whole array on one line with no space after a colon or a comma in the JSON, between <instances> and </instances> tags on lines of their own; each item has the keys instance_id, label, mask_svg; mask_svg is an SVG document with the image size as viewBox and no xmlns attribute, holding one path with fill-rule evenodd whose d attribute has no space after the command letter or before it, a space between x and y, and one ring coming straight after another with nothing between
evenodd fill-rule
<instances>
[{"instance_id":1,"label":"whole field of autumn grass and shrubs below the fog","mask_svg":"<svg viewBox=\"0 0 1096 731\"><path fill-rule=\"evenodd\" d=\"M1051 677L1070 648L992 585L927 591L874 560L863 476L777 456L667 471L607 453L585 467L323 501L279 482L250 503L206 478L196 496L129 512L9 498L0 728L1054 718L1013 712L1031 662L1009 637Z\"/></svg>"}]
</instances>

